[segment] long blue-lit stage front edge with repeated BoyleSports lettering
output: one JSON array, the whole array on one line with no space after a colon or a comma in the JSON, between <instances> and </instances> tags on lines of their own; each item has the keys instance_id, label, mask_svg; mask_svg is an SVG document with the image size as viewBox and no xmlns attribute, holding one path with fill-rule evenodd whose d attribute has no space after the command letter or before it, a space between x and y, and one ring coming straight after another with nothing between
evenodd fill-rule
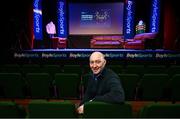
<instances>
[{"instance_id":1,"label":"long blue-lit stage front edge with repeated BoyleSports lettering","mask_svg":"<svg viewBox=\"0 0 180 119\"><path fill-rule=\"evenodd\" d=\"M15 59L88 59L93 51L101 51L115 60L179 60L180 52L172 50L134 49L32 49L16 51Z\"/></svg>"}]
</instances>

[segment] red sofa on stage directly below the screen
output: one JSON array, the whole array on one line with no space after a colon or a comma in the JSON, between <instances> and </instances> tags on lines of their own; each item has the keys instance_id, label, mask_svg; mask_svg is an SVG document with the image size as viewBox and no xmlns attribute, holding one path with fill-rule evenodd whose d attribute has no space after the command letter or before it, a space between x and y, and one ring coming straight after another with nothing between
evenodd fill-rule
<instances>
[{"instance_id":1,"label":"red sofa on stage directly below the screen","mask_svg":"<svg viewBox=\"0 0 180 119\"><path fill-rule=\"evenodd\" d=\"M123 48L122 36L94 36L91 39L91 48Z\"/></svg>"}]
</instances>

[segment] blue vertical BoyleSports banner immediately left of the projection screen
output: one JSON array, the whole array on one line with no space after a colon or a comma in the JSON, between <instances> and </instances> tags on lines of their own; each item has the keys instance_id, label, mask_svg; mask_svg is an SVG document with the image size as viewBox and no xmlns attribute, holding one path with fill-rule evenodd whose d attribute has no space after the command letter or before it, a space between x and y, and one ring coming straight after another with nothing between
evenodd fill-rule
<instances>
[{"instance_id":1,"label":"blue vertical BoyleSports banner immediately left of the projection screen","mask_svg":"<svg viewBox=\"0 0 180 119\"><path fill-rule=\"evenodd\" d=\"M59 0L57 3L58 37L67 37L66 2Z\"/></svg>"}]
</instances>

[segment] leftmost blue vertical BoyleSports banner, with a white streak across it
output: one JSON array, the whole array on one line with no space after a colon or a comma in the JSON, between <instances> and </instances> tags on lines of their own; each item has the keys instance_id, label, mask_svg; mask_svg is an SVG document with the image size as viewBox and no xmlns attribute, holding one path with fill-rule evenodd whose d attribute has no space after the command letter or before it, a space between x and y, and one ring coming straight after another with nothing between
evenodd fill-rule
<instances>
[{"instance_id":1,"label":"leftmost blue vertical BoyleSports banner, with a white streak across it","mask_svg":"<svg viewBox=\"0 0 180 119\"><path fill-rule=\"evenodd\" d=\"M34 39L42 40L42 7L41 0L34 0L33 15L34 15Z\"/></svg>"}]
</instances>

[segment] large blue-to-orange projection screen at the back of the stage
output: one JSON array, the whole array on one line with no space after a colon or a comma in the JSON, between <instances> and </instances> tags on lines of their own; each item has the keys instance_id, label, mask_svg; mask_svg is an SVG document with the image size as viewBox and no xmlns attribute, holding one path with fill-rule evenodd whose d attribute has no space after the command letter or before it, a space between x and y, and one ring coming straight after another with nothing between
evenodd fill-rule
<instances>
[{"instance_id":1,"label":"large blue-to-orange projection screen at the back of the stage","mask_svg":"<svg viewBox=\"0 0 180 119\"><path fill-rule=\"evenodd\" d=\"M124 3L70 3L69 34L123 34Z\"/></svg>"}]
</instances>

